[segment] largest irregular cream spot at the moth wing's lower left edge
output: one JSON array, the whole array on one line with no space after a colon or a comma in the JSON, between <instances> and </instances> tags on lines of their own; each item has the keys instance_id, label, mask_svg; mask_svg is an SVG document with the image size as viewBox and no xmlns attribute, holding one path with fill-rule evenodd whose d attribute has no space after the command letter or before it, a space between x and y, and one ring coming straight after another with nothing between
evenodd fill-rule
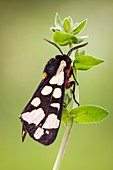
<instances>
[{"instance_id":1,"label":"largest irregular cream spot at the moth wing's lower left edge","mask_svg":"<svg viewBox=\"0 0 113 170\"><path fill-rule=\"evenodd\" d=\"M43 118L45 117L44 111L42 108L35 109L31 112L26 112L22 114L22 119L28 122L29 124L34 123L38 125Z\"/></svg>"}]
</instances>

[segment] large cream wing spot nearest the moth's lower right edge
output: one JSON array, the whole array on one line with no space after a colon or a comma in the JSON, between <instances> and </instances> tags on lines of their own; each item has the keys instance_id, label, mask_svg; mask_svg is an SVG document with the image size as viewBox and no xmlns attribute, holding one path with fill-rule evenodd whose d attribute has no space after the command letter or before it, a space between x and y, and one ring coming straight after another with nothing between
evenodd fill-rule
<instances>
[{"instance_id":1,"label":"large cream wing spot nearest the moth's lower right edge","mask_svg":"<svg viewBox=\"0 0 113 170\"><path fill-rule=\"evenodd\" d=\"M60 120L58 120L57 115L50 114L45 123L43 124L42 128L45 129L56 129L59 127Z\"/></svg>"}]
</instances>

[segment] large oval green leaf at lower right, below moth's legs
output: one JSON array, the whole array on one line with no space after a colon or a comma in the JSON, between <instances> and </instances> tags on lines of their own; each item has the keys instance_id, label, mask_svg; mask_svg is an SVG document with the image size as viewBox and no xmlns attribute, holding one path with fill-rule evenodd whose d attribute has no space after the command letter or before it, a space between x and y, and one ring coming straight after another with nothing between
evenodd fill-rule
<instances>
[{"instance_id":1,"label":"large oval green leaf at lower right, below moth's legs","mask_svg":"<svg viewBox=\"0 0 113 170\"><path fill-rule=\"evenodd\" d=\"M96 123L108 116L108 111L98 106L79 106L71 110L74 121L78 123Z\"/></svg>"}]
</instances>

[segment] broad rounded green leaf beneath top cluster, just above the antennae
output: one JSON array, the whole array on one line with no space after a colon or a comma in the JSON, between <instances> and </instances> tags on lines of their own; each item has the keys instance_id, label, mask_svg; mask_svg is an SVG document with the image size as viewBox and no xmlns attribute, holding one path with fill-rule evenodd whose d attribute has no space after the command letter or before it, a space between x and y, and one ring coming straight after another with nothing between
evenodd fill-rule
<instances>
[{"instance_id":1,"label":"broad rounded green leaf beneath top cluster, just above the antennae","mask_svg":"<svg viewBox=\"0 0 113 170\"><path fill-rule=\"evenodd\" d=\"M70 43L76 43L77 38L74 35L57 31L53 34L53 41L58 45L65 46Z\"/></svg>"}]
</instances>

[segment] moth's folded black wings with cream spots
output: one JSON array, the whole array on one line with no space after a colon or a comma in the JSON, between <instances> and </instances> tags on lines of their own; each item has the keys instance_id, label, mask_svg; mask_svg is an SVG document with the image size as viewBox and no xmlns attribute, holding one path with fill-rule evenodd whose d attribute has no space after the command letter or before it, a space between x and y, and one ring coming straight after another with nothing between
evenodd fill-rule
<instances>
[{"instance_id":1,"label":"moth's folded black wings with cream spots","mask_svg":"<svg viewBox=\"0 0 113 170\"><path fill-rule=\"evenodd\" d=\"M47 75L42 80L23 110L20 116L23 124L23 140L26 132L43 145L50 145L55 140L61 122L66 82L65 66L66 62L60 61L55 75Z\"/></svg>"}]
</instances>

